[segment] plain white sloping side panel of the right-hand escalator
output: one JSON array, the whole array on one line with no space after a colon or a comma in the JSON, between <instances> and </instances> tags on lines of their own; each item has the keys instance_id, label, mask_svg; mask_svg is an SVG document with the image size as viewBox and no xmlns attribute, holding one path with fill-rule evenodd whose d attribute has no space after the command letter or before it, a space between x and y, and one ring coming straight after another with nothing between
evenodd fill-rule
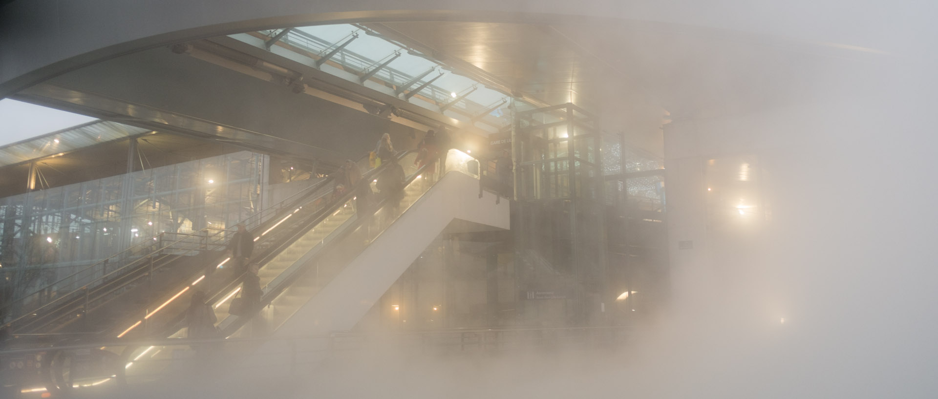
<instances>
[{"instance_id":1,"label":"plain white sloping side panel of the right-hand escalator","mask_svg":"<svg viewBox=\"0 0 938 399\"><path fill-rule=\"evenodd\" d=\"M310 336L352 329L453 219L509 229L508 200L478 197L478 180L449 172L324 288L301 305L275 335Z\"/></svg>"}]
</instances>

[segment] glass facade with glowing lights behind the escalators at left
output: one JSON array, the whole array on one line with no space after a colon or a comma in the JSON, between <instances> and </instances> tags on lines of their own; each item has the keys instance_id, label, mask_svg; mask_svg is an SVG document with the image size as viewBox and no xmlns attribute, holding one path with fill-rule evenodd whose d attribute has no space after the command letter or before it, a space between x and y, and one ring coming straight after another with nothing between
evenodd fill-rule
<instances>
[{"instance_id":1,"label":"glass facade with glowing lights behind the escalators at left","mask_svg":"<svg viewBox=\"0 0 938 399\"><path fill-rule=\"evenodd\" d=\"M243 151L0 199L0 263L51 283L161 232L232 227L259 210L265 161Z\"/></svg>"}]
</instances>

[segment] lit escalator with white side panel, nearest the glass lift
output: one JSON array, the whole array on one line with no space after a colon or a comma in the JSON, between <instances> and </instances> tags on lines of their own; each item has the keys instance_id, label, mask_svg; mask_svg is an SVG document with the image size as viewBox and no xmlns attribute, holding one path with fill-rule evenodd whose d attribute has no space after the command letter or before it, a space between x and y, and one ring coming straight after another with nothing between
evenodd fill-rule
<instances>
[{"instance_id":1,"label":"lit escalator with white side panel, nearest the glass lift","mask_svg":"<svg viewBox=\"0 0 938 399\"><path fill-rule=\"evenodd\" d=\"M415 156L402 154L400 163L411 165ZM74 387L147 383L186 373L189 368L179 362L193 358L192 344L174 344L173 338L187 336L185 314L196 289L206 293L205 303L215 310L221 335L233 338L226 346L226 359L233 362L284 353L269 348L286 342L284 336L350 330L454 219L508 229L508 201L499 202L480 188L478 169L471 156L451 150L444 176L427 167L411 169L398 195L379 192L371 206L358 203L356 193L362 186L340 196L331 190L311 196L253 230L258 249L251 261L261 266L263 288L260 309L228 315L241 288L240 273L231 268L187 274L186 283L143 310L121 315L98 336L97 342L112 342L92 350L112 359L103 375L68 374L71 355L53 348L43 365L52 370L52 377L41 390L54 396ZM370 170L359 184L373 189L382 171ZM141 346L154 339L158 340Z\"/></svg>"}]
</instances>

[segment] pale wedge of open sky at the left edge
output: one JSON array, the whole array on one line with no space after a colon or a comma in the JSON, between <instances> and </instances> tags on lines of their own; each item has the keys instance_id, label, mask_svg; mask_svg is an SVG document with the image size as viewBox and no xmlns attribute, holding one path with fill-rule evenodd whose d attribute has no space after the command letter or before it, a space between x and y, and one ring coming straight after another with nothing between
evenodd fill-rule
<instances>
[{"instance_id":1,"label":"pale wedge of open sky at the left edge","mask_svg":"<svg viewBox=\"0 0 938 399\"><path fill-rule=\"evenodd\" d=\"M0 145L34 138L68 126L95 120L90 116L53 110L9 98L0 99Z\"/></svg>"}]
</instances>

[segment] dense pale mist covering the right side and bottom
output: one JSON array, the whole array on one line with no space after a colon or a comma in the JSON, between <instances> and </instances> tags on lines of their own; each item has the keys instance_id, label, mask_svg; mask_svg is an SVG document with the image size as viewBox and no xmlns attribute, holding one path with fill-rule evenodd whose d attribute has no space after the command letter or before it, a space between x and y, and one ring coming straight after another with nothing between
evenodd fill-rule
<instances>
[{"instance_id":1,"label":"dense pale mist covering the right side and bottom","mask_svg":"<svg viewBox=\"0 0 938 399\"><path fill-rule=\"evenodd\" d=\"M670 295L634 318L625 336L457 353L401 346L393 332L377 331L355 350L310 355L292 372L268 366L277 362L269 353L251 355L208 388L206 380L180 378L178 386L140 394L938 396L938 28L924 18L936 15L935 6L698 7L675 18L732 26L733 38L704 40L689 30L673 33L690 36L675 41L680 47L660 50L611 28L583 45L584 53L621 46L632 57L622 66L634 73L628 79L607 81L601 69L582 76L602 86L594 88L613 104L607 114L629 108L655 121L659 109L671 114L663 126L636 120L642 127L627 134L662 149L665 169L674 171ZM681 63L681 54L716 48L725 51L694 58L706 63ZM659 77L680 84L655 91ZM755 211L758 222L720 221L703 209L704 162L735 155L757 157L764 173L758 196L770 206ZM692 250L678 249L690 240Z\"/></svg>"}]
</instances>

